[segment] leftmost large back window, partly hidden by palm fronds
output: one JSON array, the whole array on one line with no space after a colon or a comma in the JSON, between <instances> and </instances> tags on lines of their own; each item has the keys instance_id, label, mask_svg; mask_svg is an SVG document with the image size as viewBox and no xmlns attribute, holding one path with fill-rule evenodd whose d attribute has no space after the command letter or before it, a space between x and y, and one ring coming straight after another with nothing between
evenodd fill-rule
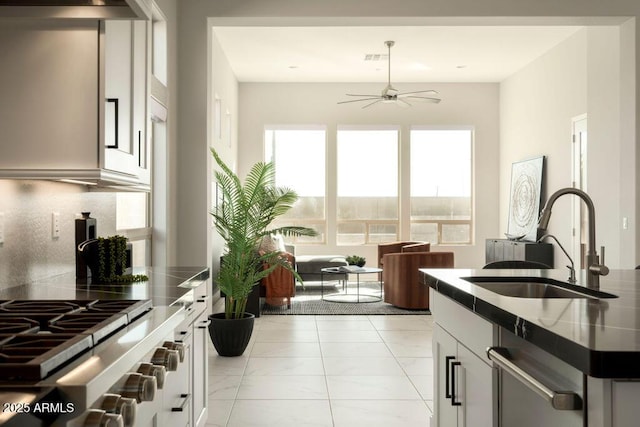
<instances>
[{"instance_id":1,"label":"leftmost large back window, partly hidden by palm fronds","mask_svg":"<svg viewBox=\"0 0 640 427\"><path fill-rule=\"evenodd\" d=\"M316 237L290 237L293 243L326 241L326 130L324 127L267 128L265 161L276 167L276 185L292 188L298 201L274 226L300 225L318 232Z\"/></svg>"}]
</instances>

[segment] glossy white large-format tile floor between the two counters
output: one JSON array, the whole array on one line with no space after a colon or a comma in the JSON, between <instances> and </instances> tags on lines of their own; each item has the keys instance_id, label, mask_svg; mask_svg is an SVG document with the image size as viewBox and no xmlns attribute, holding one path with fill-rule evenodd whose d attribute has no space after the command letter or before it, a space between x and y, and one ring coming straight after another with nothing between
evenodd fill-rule
<instances>
[{"instance_id":1,"label":"glossy white large-format tile floor between the two counters","mask_svg":"<svg viewBox=\"0 0 640 427\"><path fill-rule=\"evenodd\" d=\"M209 348L207 426L428 426L432 319L262 316L243 356Z\"/></svg>"}]
</instances>

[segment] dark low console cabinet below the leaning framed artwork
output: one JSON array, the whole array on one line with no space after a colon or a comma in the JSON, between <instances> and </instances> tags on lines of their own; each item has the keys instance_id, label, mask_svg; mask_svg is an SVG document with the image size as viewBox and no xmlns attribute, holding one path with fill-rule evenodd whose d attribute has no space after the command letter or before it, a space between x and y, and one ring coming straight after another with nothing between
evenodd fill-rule
<instances>
[{"instance_id":1,"label":"dark low console cabinet below the leaning framed artwork","mask_svg":"<svg viewBox=\"0 0 640 427\"><path fill-rule=\"evenodd\" d=\"M553 268L553 245L551 243L522 242L508 239L487 239L486 263L494 261L535 261Z\"/></svg>"}]
</instances>

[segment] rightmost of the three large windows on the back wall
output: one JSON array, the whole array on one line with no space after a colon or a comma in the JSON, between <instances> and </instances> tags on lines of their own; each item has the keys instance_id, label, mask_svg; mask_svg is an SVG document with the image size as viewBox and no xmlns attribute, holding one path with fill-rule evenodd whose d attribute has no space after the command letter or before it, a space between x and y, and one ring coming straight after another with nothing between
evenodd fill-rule
<instances>
[{"instance_id":1,"label":"rightmost of the three large windows on the back wall","mask_svg":"<svg viewBox=\"0 0 640 427\"><path fill-rule=\"evenodd\" d=\"M411 240L471 243L470 129L411 130Z\"/></svg>"}]
</instances>

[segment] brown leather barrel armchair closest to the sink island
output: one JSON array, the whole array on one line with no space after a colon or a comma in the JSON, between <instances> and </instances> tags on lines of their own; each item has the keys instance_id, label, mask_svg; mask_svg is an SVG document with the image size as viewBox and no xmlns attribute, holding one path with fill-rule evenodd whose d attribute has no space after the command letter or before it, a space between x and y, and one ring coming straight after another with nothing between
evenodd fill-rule
<instances>
[{"instance_id":1,"label":"brown leather barrel armchair closest to the sink island","mask_svg":"<svg viewBox=\"0 0 640 427\"><path fill-rule=\"evenodd\" d=\"M420 268L453 268L453 252L404 252L384 255L384 301L400 308L428 309L429 287Z\"/></svg>"}]
</instances>

